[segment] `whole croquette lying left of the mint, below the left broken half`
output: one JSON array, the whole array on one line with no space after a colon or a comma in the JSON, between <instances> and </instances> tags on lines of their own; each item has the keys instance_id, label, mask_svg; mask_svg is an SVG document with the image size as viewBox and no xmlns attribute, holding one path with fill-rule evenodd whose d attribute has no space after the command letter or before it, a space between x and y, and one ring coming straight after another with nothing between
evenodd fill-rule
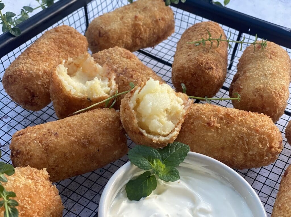
<instances>
[{"instance_id":1,"label":"whole croquette lying left of the mint, below the left broken half","mask_svg":"<svg viewBox=\"0 0 291 217\"><path fill-rule=\"evenodd\" d=\"M52 182L101 168L127 153L119 112L97 108L17 131L13 166L47 168Z\"/></svg>"}]
</instances>

